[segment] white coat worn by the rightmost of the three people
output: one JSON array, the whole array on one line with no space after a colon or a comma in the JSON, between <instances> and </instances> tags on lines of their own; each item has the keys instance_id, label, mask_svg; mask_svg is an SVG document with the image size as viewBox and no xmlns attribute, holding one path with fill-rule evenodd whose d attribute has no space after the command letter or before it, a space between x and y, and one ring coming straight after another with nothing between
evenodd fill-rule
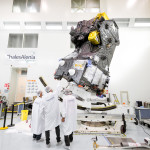
<instances>
[{"instance_id":1,"label":"white coat worn by the rightmost of the three people","mask_svg":"<svg viewBox=\"0 0 150 150\"><path fill-rule=\"evenodd\" d=\"M70 135L76 130L77 124L77 103L73 95L67 95L63 99L62 117L65 122L62 122L62 130L64 135Z\"/></svg>"}]
</instances>

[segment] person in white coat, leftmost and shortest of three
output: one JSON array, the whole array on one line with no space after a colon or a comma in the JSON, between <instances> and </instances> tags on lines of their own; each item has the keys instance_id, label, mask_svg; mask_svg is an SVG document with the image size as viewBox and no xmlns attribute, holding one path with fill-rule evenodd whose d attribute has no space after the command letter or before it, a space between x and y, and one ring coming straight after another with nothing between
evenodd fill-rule
<instances>
[{"instance_id":1,"label":"person in white coat, leftmost and shortest of three","mask_svg":"<svg viewBox=\"0 0 150 150\"><path fill-rule=\"evenodd\" d=\"M38 97L35 99L32 108L31 131L33 132L33 140L39 142L43 141L43 139L41 139L41 136L42 132L44 131L44 117L40 113L40 108L43 101L42 91L38 91L37 96Z\"/></svg>"}]
</instances>

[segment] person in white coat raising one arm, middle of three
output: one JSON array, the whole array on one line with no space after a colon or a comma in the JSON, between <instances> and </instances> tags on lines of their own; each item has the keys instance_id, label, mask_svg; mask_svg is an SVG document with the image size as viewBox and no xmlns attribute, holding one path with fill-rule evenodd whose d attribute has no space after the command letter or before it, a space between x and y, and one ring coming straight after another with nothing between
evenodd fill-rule
<instances>
[{"instance_id":1,"label":"person in white coat raising one arm, middle of three","mask_svg":"<svg viewBox=\"0 0 150 150\"><path fill-rule=\"evenodd\" d=\"M57 145L62 144L60 138L61 117L59 110L58 94L61 91L61 87L58 86L57 90L53 90L47 86L45 88L46 94L44 95L44 102L41 108L42 113L45 116L45 136L46 136L46 147L50 147L50 131L55 128Z\"/></svg>"}]
</instances>

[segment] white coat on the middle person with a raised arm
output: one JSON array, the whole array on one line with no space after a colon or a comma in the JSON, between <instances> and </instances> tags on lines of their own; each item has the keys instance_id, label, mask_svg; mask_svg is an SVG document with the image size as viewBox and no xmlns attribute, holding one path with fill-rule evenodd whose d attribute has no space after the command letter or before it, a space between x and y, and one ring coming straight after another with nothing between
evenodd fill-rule
<instances>
[{"instance_id":1,"label":"white coat on the middle person with a raised arm","mask_svg":"<svg viewBox=\"0 0 150 150\"><path fill-rule=\"evenodd\" d=\"M58 94L61 87L58 86L55 92L49 92L44 95L44 101L41 107L41 113L45 115L45 131L53 130L61 124Z\"/></svg>"}]
</instances>

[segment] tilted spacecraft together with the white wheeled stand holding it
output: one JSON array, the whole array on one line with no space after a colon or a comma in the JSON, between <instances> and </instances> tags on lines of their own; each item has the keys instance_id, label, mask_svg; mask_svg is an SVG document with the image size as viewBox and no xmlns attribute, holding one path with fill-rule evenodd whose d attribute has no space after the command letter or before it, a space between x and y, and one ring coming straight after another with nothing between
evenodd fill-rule
<instances>
[{"instance_id":1,"label":"tilted spacecraft together with the white wheeled stand holding it","mask_svg":"<svg viewBox=\"0 0 150 150\"><path fill-rule=\"evenodd\" d=\"M110 102L106 90L110 72L109 66L116 46L119 45L118 26L105 13L99 13L91 20L77 23L70 31L75 50L60 59L54 78L68 81L78 104L78 131L125 133L126 121L134 120L129 114L101 113L117 108ZM63 99L63 96L60 96ZM110 127L111 126L111 127Z\"/></svg>"}]
</instances>

